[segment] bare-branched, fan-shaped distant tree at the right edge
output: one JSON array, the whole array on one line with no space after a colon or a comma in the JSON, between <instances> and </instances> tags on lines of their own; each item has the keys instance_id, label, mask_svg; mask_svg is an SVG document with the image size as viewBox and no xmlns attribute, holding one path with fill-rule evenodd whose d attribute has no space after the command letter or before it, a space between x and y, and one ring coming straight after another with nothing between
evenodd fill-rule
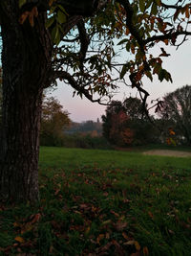
<instances>
[{"instance_id":1,"label":"bare-branched, fan-shaped distant tree at the right edge","mask_svg":"<svg viewBox=\"0 0 191 256\"><path fill-rule=\"evenodd\" d=\"M191 145L191 85L185 85L164 96L159 116Z\"/></svg>"}]
</instances>

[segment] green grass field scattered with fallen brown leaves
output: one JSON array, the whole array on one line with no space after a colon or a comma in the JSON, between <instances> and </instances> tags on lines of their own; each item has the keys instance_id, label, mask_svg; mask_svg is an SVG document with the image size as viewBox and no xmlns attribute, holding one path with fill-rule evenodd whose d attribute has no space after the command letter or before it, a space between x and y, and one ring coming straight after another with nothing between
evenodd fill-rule
<instances>
[{"instance_id":1,"label":"green grass field scattered with fallen brown leaves","mask_svg":"<svg viewBox=\"0 0 191 256\"><path fill-rule=\"evenodd\" d=\"M41 148L40 202L0 208L0 255L191 255L191 157L141 151Z\"/></svg>"}]
</instances>

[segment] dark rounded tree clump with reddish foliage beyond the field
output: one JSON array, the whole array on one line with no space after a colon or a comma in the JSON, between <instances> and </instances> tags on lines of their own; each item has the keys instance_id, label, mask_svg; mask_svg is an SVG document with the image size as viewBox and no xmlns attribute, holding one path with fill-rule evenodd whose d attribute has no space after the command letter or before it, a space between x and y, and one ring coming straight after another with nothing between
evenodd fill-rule
<instances>
[{"instance_id":1,"label":"dark rounded tree clump with reddish foliage beyond the field","mask_svg":"<svg viewBox=\"0 0 191 256\"><path fill-rule=\"evenodd\" d=\"M112 102L102 116L103 136L117 146L153 143L157 128L143 115L142 103L129 97L123 103Z\"/></svg>"}]
</instances>

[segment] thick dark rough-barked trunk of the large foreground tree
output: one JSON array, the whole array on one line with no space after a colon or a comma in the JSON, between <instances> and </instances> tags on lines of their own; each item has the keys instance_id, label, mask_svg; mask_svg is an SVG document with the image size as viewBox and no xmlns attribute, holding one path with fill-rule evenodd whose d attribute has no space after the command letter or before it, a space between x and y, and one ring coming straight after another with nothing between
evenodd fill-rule
<instances>
[{"instance_id":1,"label":"thick dark rough-barked trunk of the large foreground tree","mask_svg":"<svg viewBox=\"0 0 191 256\"><path fill-rule=\"evenodd\" d=\"M2 0L1 0L2 1ZM45 15L19 24L18 0L3 0L3 107L0 199L38 199L38 153L42 92L48 85L52 44Z\"/></svg>"}]
</instances>

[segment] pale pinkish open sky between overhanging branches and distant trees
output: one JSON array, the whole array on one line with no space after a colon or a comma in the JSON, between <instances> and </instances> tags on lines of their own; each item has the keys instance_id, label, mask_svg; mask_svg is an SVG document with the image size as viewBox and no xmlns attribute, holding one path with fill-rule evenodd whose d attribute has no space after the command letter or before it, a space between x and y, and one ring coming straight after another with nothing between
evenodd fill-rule
<instances>
[{"instance_id":1,"label":"pale pinkish open sky between overhanging branches and distant trees","mask_svg":"<svg viewBox=\"0 0 191 256\"><path fill-rule=\"evenodd\" d=\"M154 50L154 54L159 52L157 46ZM163 47L163 45L162 45ZM163 59L163 67L167 69L172 76L173 83L168 81L158 81L157 77L154 81L143 81L143 87L146 89L150 96L147 103L150 105L152 100L162 98L166 93L172 92L177 88L191 84L191 38L185 41L178 50L175 47L165 47L165 50L171 56ZM106 106L98 105L97 103L91 103L87 99L74 96L74 89L70 85L66 85L63 82L58 81L57 88L53 91L52 96L55 97L64 109L67 109L70 113L70 118L74 122L83 122L87 120L96 121L97 118L101 118L101 115L105 113ZM114 100L122 101L124 97L136 96L137 90L126 86L120 86L117 95Z\"/></svg>"}]
</instances>

